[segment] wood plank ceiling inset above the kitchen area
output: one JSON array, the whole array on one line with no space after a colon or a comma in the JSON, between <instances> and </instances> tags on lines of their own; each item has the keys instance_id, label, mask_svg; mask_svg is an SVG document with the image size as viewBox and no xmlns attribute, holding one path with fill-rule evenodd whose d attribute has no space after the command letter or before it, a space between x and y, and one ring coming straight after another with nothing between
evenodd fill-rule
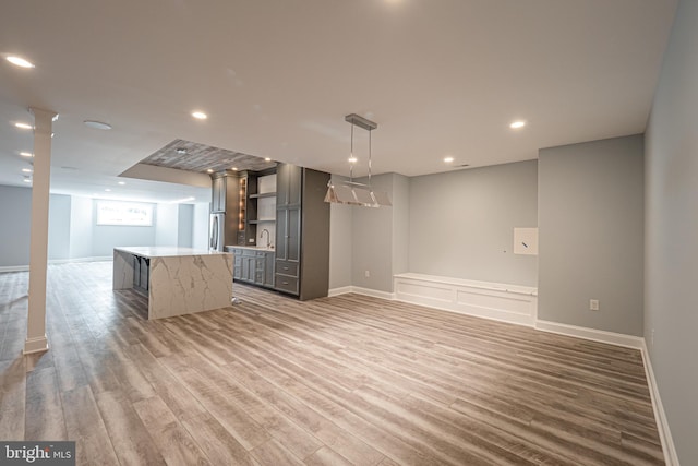
<instances>
[{"instance_id":1,"label":"wood plank ceiling inset above the kitchen area","mask_svg":"<svg viewBox=\"0 0 698 466\"><path fill-rule=\"evenodd\" d=\"M262 157L184 140L172 141L145 157L141 164L200 174L206 174L209 169L215 172L233 168L262 171L276 166L275 162L266 162Z\"/></svg>"}]
</instances>

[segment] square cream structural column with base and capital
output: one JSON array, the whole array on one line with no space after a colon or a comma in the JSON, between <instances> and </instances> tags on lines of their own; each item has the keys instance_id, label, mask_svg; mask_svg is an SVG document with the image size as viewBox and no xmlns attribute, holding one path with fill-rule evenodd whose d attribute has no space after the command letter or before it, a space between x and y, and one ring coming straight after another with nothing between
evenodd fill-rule
<instances>
[{"instance_id":1,"label":"square cream structural column with base and capital","mask_svg":"<svg viewBox=\"0 0 698 466\"><path fill-rule=\"evenodd\" d=\"M58 113L34 113L34 181L32 182L32 234L29 237L29 308L24 354L48 349L46 338L46 272L48 266L48 203L51 176L51 133Z\"/></svg>"}]
</instances>

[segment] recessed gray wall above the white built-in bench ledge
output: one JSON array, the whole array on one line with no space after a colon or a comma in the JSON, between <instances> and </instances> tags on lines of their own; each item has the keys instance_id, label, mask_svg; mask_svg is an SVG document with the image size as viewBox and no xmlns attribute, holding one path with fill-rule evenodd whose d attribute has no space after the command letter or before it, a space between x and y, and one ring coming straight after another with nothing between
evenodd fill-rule
<instances>
[{"instance_id":1,"label":"recessed gray wall above the white built-in bench ledge","mask_svg":"<svg viewBox=\"0 0 698 466\"><path fill-rule=\"evenodd\" d=\"M537 285L538 259L512 253L515 227L538 226L537 162L410 179L410 272Z\"/></svg>"}]
</instances>

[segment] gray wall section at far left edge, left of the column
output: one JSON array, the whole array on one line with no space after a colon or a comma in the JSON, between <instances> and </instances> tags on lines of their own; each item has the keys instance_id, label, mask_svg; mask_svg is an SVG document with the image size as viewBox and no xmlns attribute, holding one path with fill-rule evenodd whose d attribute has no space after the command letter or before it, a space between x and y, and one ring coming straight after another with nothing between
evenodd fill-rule
<instances>
[{"instance_id":1,"label":"gray wall section at far left edge, left of the column","mask_svg":"<svg viewBox=\"0 0 698 466\"><path fill-rule=\"evenodd\" d=\"M32 189L0 186L0 267L29 264Z\"/></svg>"}]
</instances>

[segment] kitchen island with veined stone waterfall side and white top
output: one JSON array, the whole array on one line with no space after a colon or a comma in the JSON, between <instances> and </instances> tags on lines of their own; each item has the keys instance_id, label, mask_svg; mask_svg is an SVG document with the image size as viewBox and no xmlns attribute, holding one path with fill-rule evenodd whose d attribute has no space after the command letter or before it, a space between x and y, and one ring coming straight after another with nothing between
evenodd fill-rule
<instances>
[{"instance_id":1,"label":"kitchen island with veined stone waterfall side and white top","mask_svg":"<svg viewBox=\"0 0 698 466\"><path fill-rule=\"evenodd\" d=\"M177 247L113 249L113 289L148 297L148 319L230 306L232 254Z\"/></svg>"}]
</instances>

